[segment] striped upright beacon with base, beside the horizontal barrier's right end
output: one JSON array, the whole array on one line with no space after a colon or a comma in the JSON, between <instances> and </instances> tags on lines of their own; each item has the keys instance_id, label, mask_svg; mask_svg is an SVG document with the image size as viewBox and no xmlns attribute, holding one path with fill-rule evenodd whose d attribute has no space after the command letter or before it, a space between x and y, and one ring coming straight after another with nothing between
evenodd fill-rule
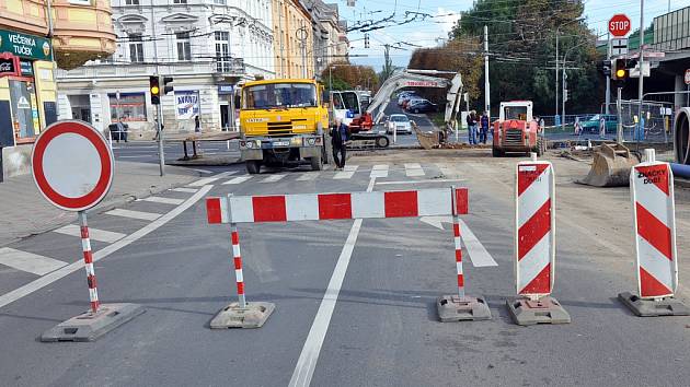
<instances>
[{"instance_id":1,"label":"striped upright beacon with base, beside the horizontal barrier's right end","mask_svg":"<svg viewBox=\"0 0 690 387\"><path fill-rule=\"evenodd\" d=\"M508 301L518 325L564 324L570 315L551 297L555 274L555 178L549 162L519 162L515 196L515 277Z\"/></svg>"}]
</instances>

